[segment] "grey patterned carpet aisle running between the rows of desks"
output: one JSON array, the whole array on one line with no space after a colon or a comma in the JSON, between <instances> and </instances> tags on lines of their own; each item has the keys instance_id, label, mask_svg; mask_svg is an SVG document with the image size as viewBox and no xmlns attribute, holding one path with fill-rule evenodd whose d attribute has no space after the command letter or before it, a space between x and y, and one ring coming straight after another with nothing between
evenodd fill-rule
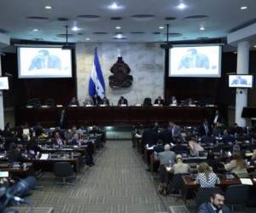
<instances>
[{"instance_id":1,"label":"grey patterned carpet aisle running between the rows of desks","mask_svg":"<svg viewBox=\"0 0 256 213\"><path fill-rule=\"evenodd\" d=\"M53 206L55 212L155 213L166 211L154 181L131 141L108 141L96 165L78 176L74 187L54 185L50 174L44 189L33 192L36 206Z\"/></svg>"}]
</instances>

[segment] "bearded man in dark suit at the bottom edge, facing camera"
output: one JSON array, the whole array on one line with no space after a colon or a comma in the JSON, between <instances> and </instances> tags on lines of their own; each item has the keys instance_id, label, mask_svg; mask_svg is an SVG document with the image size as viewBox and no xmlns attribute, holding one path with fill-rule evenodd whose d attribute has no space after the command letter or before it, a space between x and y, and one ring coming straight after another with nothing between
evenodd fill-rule
<instances>
[{"instance_id":1,"label":"bearded man in dark suit at the bottom edge, facing camera","mask_svg":"<svg viewBox=\"0 0 256 213\"><path fill-rule=\"evenodd\" d=\"M228 207L224 205L224 194L214 192L211 194L210 202L201 204L198 213L230 213Z\"/></svg>"}]
</instances>

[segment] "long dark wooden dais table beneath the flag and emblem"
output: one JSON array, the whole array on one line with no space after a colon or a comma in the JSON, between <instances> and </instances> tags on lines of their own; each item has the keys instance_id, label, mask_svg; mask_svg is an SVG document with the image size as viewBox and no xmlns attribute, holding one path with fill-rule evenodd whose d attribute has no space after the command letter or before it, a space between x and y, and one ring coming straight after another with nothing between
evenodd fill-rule
<instances>
[{"instance_id":1,"label":"long dark wooden dais table beneath the flag and emblem","mask_svg":"<svg viewBox=\"0 0 256 213\"><path fill-rule=\"evenodd\" d=\"M36 124L44 126L60 124L62 108L26 108L16 109L16 124ZM77 124L152 124L167 123L169 120L182 125L201 124L203 118L209 118L215 107L67 107L66 123Z\"/></svg>"}]
</instances>

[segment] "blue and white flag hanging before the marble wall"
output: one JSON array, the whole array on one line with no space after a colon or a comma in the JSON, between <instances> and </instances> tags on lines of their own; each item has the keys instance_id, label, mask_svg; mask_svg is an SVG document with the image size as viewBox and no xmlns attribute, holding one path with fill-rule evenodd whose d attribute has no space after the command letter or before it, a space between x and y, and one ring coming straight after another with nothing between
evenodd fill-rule
<instances>
[{"instance_id":1,"label":"blue and white flag hanging before the marble wall","mask_svg":"<svg viewBox=\"0 0 256 213\"><path fill-rule=\"evenodd\" d=\"M89 95L99 95L101 98L103 98L105 95L105 82L102 75L100 61L97 55L97 49L95 49L93 65L90 73Z\"/></svg>"}]
</instances>

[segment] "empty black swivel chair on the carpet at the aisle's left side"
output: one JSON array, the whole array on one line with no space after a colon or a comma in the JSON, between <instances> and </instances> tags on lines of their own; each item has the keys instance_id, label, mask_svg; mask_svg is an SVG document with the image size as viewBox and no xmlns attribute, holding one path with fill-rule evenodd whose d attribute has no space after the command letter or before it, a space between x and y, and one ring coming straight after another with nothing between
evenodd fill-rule
<instances>
[{"instance_id":1,"label":"empty black swivel chair on the carpet at the aisle's left side","mask_svg":"<svg viewBox=\"0 0 256 213\"><path fill-rule=\"evenodd\" d=\"M55 176L61 177L62 181L57 182L58 184L63 185L71 185L73 186L73 183L67 182L67 178L72 178L74 176L72 165L68 162L58 162L54 164L54 170L53 170Z\"/></svg>"}]
</instances>

